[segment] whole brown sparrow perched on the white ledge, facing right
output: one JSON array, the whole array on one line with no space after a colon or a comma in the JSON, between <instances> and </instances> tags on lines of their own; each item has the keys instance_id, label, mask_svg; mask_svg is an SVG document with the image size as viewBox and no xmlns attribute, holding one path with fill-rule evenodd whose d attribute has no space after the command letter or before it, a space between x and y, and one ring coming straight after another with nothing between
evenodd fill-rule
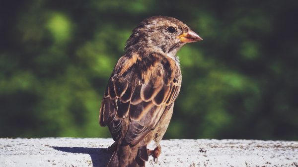
<instances>
[{"instance_id":1,"label":"whole brown sparrow perched on the white ledge, facing right","mask_svg":"<svg viewBox=\"0 0 298 167\"><path fill-rule=\"evenodd\" d=\"M145 167L158 158L159 145L181 86L177 51L201 41L181 21L166 16L143 20L134 30L108 81L99 123L108 126L115 143L107 167ZM156 148L147 145L155 142Z\"/></svg>"}]
</instances>

